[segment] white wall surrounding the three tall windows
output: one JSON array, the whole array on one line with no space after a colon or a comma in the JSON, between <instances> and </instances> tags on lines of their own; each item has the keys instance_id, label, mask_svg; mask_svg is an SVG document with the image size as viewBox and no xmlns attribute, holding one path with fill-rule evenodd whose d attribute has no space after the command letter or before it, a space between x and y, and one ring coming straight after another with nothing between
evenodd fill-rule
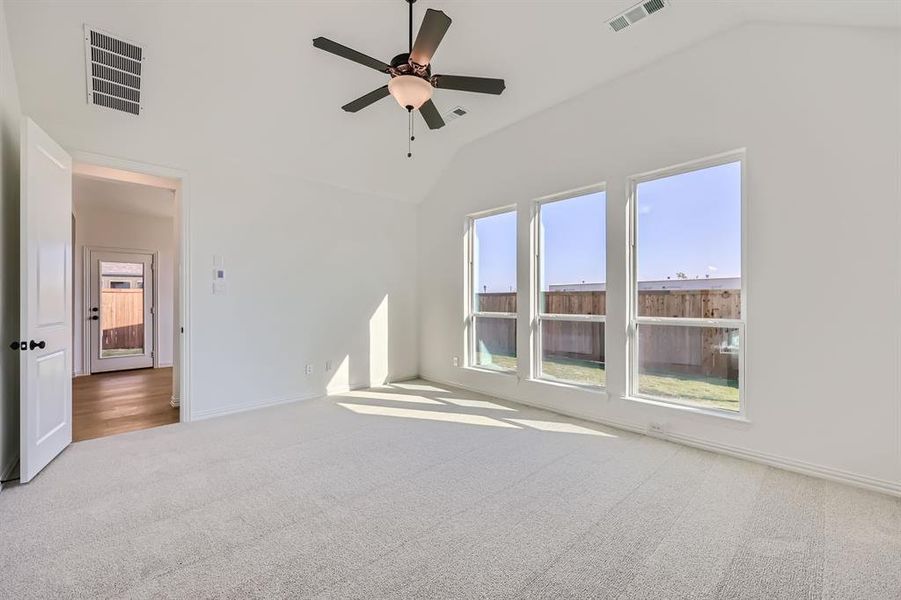
<instances>
[{"instance_id":1,"label":"white wall surrounding the three tall windows","mask_svg":"<svg viewBox=\"0 0 901 600\"><path fill-rule=\"evenodd\" d=\"M465 148L419 213L421 373L901 491L899 50L897 31L750 24ZM750 422L625 400L626 179L741 147ZM600 181L607 394L453 368L465 215L519 203L528 306L530 201Z\"/></svg>"}]
</instances>

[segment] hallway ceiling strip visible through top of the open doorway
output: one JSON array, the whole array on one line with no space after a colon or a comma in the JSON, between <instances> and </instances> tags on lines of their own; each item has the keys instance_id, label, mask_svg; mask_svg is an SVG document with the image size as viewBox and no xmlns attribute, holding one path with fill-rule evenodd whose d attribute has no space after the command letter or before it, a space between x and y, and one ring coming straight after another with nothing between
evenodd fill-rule
<instances>
[{"instance_id":1,"label":"hallway ceiling strip visible through top of the open doorway","mask_svg":"<svg viewBox=\"0 0 901 600\"><path fill-rule=\"evenodd\" d=\"M175 217L174 191L139 183L75 175L72 177L72 201L76 215L89 211Z\"/></svg>"}]
</instances>

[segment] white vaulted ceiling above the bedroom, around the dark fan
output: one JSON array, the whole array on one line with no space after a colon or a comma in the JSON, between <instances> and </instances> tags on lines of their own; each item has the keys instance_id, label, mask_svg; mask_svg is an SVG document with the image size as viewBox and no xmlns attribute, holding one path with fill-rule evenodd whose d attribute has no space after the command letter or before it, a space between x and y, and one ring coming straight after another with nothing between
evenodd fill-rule
<instances>
[{"instance_id":1,"label":"white vaulted ceiling above the bedroom, around the dark fan","mask_svg":"<svg viewBox=\"0 0 901 600\"><path fill-rule=\"evenodd\" d=\"M407 39L403 0L83 2L7 0L24 110L64 144L93 140L125 158L183 167L197 156L299 173L340 187L419 200L467 143L677 49L749 20L901 26L894 0L673 0L623 32L606 21L634 0L419 0L453 24L433 72L503 77L503 95L437 90L442 113L470 114L428 131L391 98L356 114L340 106L386 76L312 47L322 35L384 61ZM83 23L136 40L149 57L140 117L85 102ZM101 133L109 141L104 146ZM535 140L540 143L540 140Z\"/></svg>"}]
</instances>

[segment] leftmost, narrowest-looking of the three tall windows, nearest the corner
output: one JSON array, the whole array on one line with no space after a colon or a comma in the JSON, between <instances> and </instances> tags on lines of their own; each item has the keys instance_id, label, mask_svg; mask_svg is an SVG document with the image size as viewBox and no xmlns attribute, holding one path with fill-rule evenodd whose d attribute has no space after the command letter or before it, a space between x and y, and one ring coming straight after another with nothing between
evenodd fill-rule
<instances>
[{"instance_id":1,"label":"leftmost, narrowest-looking of the three tall windows, nearest the corner","mask_svg":"<svg viewBox=\"0 0 901 600\"><path fill-rule=\"evenodd\" d=\"M516 211L470 217L469 365L516 370Z\"/></svg>"}]
</instances>

